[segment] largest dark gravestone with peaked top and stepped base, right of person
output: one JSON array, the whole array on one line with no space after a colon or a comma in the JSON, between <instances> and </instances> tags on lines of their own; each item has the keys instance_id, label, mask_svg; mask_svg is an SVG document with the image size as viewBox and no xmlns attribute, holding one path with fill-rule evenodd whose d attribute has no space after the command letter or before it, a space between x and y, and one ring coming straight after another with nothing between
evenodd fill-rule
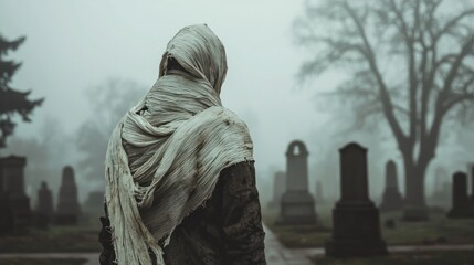
<instances>
[{"instance_id":1,"label":"largest dark gravestone with peaked top and stepped base, right of person","mask_svg":"<svg viewBox=\"0 0 474 265\"><path fill-rule=\"evenodd\" d=\"M326 242L326 255L385 255L379 211L368 194L367 149L351 142L339 152L341 198L333 210L333 234Z\"/></svg>"}]
</instances>

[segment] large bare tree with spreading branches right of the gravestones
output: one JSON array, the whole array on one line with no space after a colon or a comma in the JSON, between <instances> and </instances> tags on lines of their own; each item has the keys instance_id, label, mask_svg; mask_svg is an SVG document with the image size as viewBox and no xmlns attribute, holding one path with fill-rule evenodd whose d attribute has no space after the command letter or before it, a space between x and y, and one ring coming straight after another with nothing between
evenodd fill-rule
<instances>
[{"instance_id":1,"label":"large bare tree with spreading branches right of the gravestones","mask_svg":"<svg viewBox=\"0 0 474 265\"><path fill-rule=\"evenodd\" d=\"M331 0L307 1L295 22L298 44L315 54L302 80L349 71L337 95L359 119L387 121L403 157L407 220L428 218L424 176L443 121L473 110L473 17L463 1Z\"/></svg>"}]
</instances>

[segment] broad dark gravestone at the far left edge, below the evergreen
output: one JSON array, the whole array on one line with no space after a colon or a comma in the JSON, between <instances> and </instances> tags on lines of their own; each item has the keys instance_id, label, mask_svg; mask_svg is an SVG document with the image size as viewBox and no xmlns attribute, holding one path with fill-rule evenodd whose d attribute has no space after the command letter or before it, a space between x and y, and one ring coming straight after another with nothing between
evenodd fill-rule
<instances>
[{"instance_id":1,"label":"broad dark gravestone at the far left edge, below the evergreen","mask_svg":"<svg viewBox=\"0 0 474 265\"><path fill-rule=\"evenodd\" d=\"M13 232L22 232L31 225L30 198L24 192L24 166L27 158L10 156L0 158L2 203L8 204ZM4 205L3 205L4 206Z\"/></svg>"}]
</instances>

